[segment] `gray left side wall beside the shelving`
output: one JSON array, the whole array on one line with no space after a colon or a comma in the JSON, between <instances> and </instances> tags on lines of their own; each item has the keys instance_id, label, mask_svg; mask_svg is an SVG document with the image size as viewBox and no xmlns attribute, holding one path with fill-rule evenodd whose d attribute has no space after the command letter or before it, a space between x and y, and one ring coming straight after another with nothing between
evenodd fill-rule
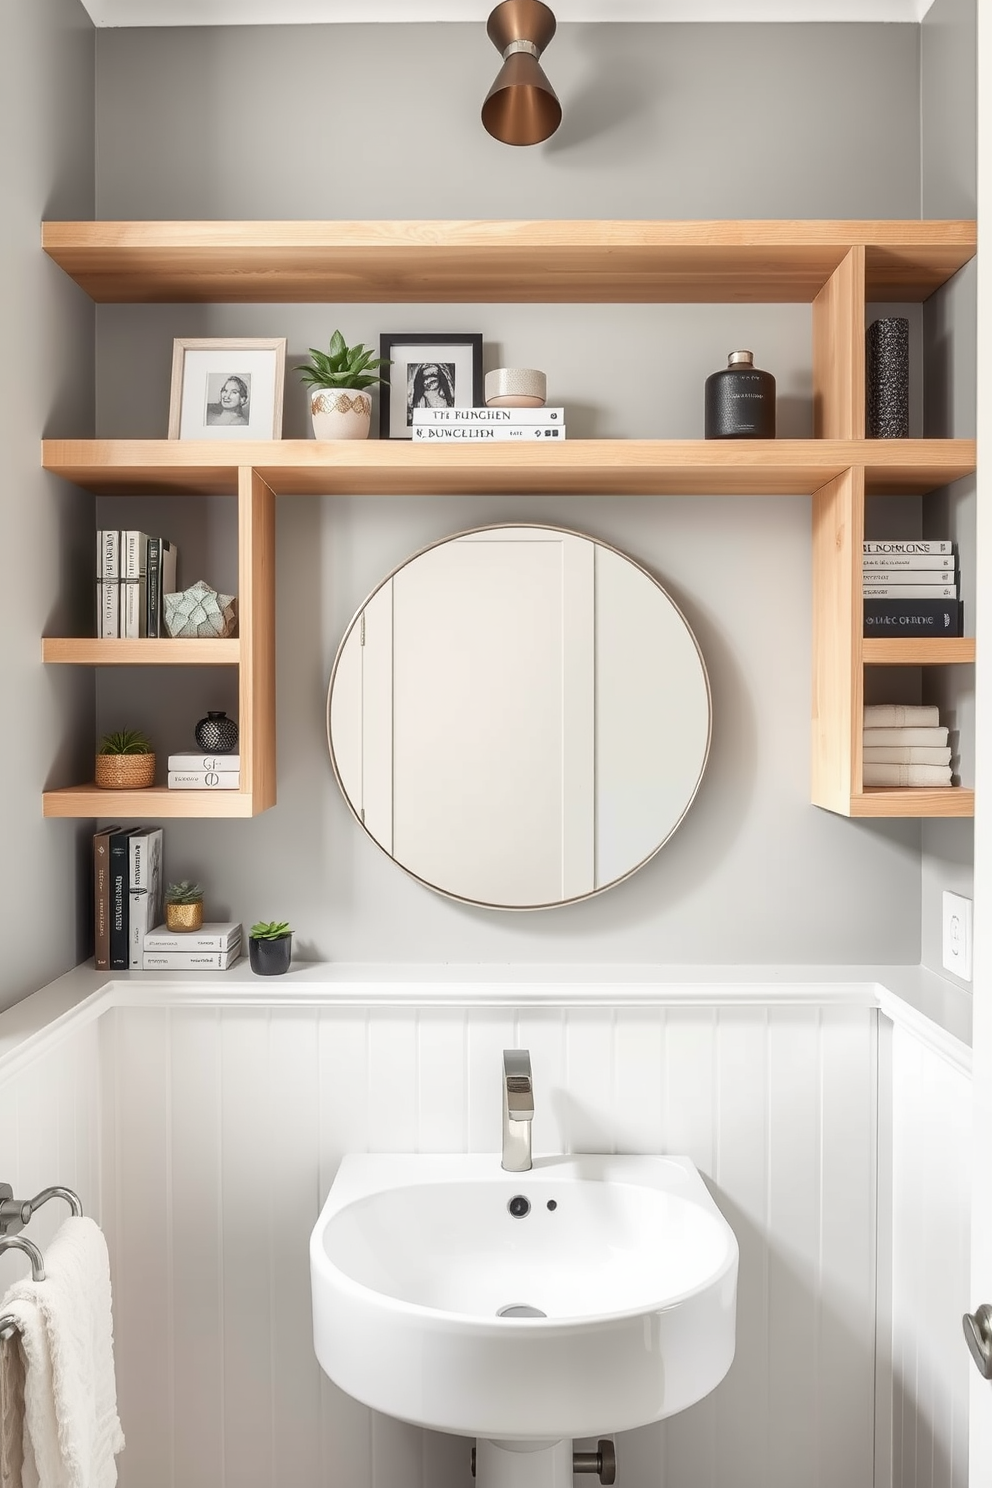
<instances>
[{"instance_id":1,"label":"gray left side wall beside the shelving","mask_svg":"<svg viewBox=\"0 0 992 1488\"><path fill-rule=\"evenodd\" d=\"M4 4L0 52L6 1007L88 954L88 829L43 821L42 792L89 772L92 682L45 670L39 635L71 634L82 620L94 503L43 475L39 434L92 433L94 311L42 254L39 223L94 214L94 30L77 0Z\"/></svg>"}]
</instances>

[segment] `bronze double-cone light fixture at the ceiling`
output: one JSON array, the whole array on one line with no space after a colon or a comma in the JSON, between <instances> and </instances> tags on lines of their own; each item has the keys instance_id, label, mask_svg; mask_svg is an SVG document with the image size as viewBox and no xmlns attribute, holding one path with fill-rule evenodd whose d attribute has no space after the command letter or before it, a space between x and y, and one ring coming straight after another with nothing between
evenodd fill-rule
<instances>
[{"instance_id":1,"label":"bronze double-cone light fixture at the ceiling","mask_svg":"<svg viewBox=\"0 0 992 1488\"><path fill-rule=\"evenodd\" d=\"M561 104L538 62L555 34L541 0L503 0L486 22L503 67L482 106L482 122L504 144L540 144L561 124Z\"/></svg>"}]
</instances>

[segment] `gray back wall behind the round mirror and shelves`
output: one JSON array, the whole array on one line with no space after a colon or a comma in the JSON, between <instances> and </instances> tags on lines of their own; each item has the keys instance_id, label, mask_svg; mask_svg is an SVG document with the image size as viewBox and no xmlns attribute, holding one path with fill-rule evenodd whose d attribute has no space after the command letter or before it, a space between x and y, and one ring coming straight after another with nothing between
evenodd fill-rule
<instances>
[{"instance_id":1,"label":"gray back wall behind the round mirror and shelves","mask_svg":"<svg viewBox=\"0 0 992 1488\"><path fill-rule=\"evenodd\" d=\"M497 57L477 27L103 31L98 214L915 217L919 36L562 25L546 61L565 124L512 150L479 125ZM573 432L602 436L699 436L705 375L751 345L779 378L782 432L809 432L802 308L491 305L101 308L98 430L165 432L175 335L286 333L292 363L336 324L366 341L479 329L488 365L547 368ZM290 376L286 433L305 432ZM101 504L107 521L120 510ZM129 510L178 539L184 583L223 586L231 503ZM408 879L354 827L324 744L327 676L366 592L422 543L501 519L580 527L647 564L695 626L714 690L711 765L672 842L620 888L540 915L473 911ZM305 952L335 961L918 960L919 826L809 805L806 500L286 497L277 583L280 804L167 829L170 875L201 876L211 914L292 918ZM231 701L222 674L109 673L98 726L147 723L164 748L187 743L211 696Z\"/></svg>"}]
</instances>

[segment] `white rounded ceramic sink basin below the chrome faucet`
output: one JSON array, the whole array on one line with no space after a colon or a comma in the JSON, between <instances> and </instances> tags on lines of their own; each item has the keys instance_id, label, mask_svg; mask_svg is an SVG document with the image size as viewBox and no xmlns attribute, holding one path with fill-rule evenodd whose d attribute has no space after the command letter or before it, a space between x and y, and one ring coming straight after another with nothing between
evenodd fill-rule
<instances>
[{"instance_id":1,"label":"white rounded ceramic sink basin below the chrome faucet","mask_svg":"<svg viewBox=\"0 0 992 1488\"><path fill-rule=\"evenodd\" d=\"M440 1431L623 1431L733 1360L738 1242L689 1158L351 1153L309 1257L324 1372Z\"/></svg>"}]
</instances>

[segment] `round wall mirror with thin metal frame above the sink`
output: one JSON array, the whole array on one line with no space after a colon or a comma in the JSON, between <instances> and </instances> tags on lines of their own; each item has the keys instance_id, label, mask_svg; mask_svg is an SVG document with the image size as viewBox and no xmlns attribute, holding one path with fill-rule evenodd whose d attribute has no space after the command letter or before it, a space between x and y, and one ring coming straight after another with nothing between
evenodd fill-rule
<instances>
[{"instance_id":1,"label":"round wall mirror with thin metal frame above the sink","mask_svg":"<svg viewBox=\"0 0 992 1488\"><path fill-rule=\"evenodd\" d=\"M357 821L428 888L494 909L602 893L669 839L709 751L678 606L608 543L483 527L369 595L327 689Z\"/></svg>"}]
</instances>

